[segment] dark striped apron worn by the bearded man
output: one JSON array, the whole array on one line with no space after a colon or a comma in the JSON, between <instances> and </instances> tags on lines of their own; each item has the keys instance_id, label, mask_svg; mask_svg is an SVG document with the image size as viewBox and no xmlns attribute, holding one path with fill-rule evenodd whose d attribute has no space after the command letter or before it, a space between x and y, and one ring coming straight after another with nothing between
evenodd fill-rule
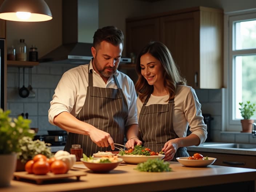
<instances>
[{"instance_id":1,"label":"dark striped apron worn by the bearded man","mask_svg":"<svg viewBox=\"0 0 256 192\"><path fill-rule=\"evenodd\" d=\"M89 65L88 65L89 71ZM115 143L124 144L128 105L119 82L114 75L117 89L93 87L92 71L88 73L88 87L84 106L77 119L108 132ZM88 135L69 133L64 150L70 152L72 144L80 144L88 157L98 151L111 151L111 147L98 147Z\"/></svg>"}]
</instances>

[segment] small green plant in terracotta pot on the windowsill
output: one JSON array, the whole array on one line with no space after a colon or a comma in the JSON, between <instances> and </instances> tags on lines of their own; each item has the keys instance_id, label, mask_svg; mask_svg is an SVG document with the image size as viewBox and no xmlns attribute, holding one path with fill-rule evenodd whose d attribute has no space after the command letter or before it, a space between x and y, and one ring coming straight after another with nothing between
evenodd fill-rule
<instances>
[{"instance_id":1,"label":"small green plant in terracotta pot on the windowsill","mask_svg":"<svg viewBox=\"0 0 256 192\"><path fill-rule=\"evenodd\" d=\"M239 108L241 112L241 116L244 119L241 119L241 124L242 124L242 129L243 131L241 132L252 132L252 124L254 122L253 119L250 119L256 110L255 103L251 104L250 101L247 101L245 104L239 103L241 108Z\"/></svg>"}]
</instances>

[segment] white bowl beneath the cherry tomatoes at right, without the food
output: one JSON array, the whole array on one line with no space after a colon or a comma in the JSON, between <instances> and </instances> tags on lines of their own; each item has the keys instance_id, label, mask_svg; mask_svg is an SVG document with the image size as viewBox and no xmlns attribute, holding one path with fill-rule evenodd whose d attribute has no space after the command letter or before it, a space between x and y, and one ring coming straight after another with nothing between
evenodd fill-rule
<instances>
[{"instance_id":1,"label":"white bowl beneath the cherry tomatoes at right, without the food","mask_svg":"<svg viewBox=\"0 0 256 192\"><path fill-rule=\"evenodd\" d=\"M188 157L177 157L176 159L177 161L179 161L179 163L187 167L206 167L208 165L213 164L216 161L216 158L214 157L208 157L208 160L194 160L188 159Z\"/></svg>"}]
</instances>

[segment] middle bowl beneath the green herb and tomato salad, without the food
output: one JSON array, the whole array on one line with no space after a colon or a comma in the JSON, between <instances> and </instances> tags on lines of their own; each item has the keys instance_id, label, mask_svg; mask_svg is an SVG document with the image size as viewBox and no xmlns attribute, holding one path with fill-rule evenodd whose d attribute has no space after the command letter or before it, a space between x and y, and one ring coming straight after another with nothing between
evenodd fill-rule
<instances>
[{"instance_id":1,"label":"middle bowl beneath the green herb and tomato salad, without the food","mask_svg":"<svg viewBox=\"0 0 256 192\"><path fill-rule=\"evenodd\" d=\"M165 155L151 155L151 156L139 156L139 155L119 155L117 157L122 158L126 163L138 164L147 161L148 159L163 159Z\"/></svg>"}]
</instances>

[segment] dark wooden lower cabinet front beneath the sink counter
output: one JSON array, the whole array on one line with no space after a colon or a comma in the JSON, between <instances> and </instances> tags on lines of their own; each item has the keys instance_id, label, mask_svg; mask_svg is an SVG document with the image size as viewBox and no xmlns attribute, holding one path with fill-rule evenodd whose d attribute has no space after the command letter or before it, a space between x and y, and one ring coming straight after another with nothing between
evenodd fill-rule
<instances>
[{"instance_id":1,"label":"dark wooden lower cabinet front beneath the sink counter","mask_svg":"<svg viewBox=\"0 0 256 192\"><path fill-rule=\"evenodd\" d=\"M188 153L190 156L192 156L194 153L200 153L204 157L206 156L215 157L217 160L213 163L213 165L256 169L256 156L198 152L198 151L188 151Z\"/></svg>"}]
</instances>

